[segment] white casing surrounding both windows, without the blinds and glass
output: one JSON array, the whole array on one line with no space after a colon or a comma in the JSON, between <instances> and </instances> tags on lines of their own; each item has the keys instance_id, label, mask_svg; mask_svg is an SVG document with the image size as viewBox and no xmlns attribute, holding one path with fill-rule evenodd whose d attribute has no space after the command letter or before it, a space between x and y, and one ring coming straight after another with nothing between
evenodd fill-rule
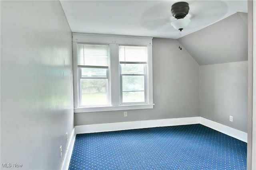
<instances>
[{"instance_id":1,"label":"white casing surrounding both windows, without the blinds and glass","mask_svg":"<svg viewBox=\"0 0 256 170\"><path fill-rule=\"evenodd\" d=\"M73 41L73 77L74 77L74 113L94 112L94 111L114 111L114 110L130 110L130 109L151 109L153 103L153 83L152 83L152 37L134 37L134 36L118 36L118 35L100 35L86 33L72 33ZM78 86L78 66L77 66L77 44L100 44L109 45L109 67L108 67L108 86L109 105L108 106L79 106L79 86ZM146 86L146 102L145 103L129 103L121 102L120 87L120 63L119 63L119 45L146 46L148 48L148 68L147 77L145 78ZM117 90L119 89L119 90Z\"/></svg>"}]
</instances>

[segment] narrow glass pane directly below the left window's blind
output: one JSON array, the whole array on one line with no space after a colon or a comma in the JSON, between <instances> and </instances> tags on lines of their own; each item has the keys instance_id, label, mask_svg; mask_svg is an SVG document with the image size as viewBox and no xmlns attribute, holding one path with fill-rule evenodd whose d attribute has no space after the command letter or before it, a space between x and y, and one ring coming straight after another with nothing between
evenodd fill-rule
<instances>
[{"instance_id":1,"label":"narrow glass pane directly below the left window's blind","mask_svg":"<svg viewBox=\"0 0 256 170\"><path fill-rule=\"evenodd\" d=\"M107 68L80 68L82 77L106 77Z\"/></svg>"}]
</instances>

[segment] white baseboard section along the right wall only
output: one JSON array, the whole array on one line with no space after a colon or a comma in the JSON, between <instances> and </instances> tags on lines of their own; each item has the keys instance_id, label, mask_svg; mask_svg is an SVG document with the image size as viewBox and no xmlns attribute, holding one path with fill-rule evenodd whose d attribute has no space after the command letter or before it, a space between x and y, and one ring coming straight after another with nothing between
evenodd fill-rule
<instances>
[{"instance_id":1,"label":"white baseboard section along the right wall only","mask_svg":"<svg viewBox=\"0 0 256 170\"><path fill-rule=\"evenodd\" d=\"M224 133L226 135L229 135L231 137L234 137L236 139L239 139L241 141L244 141L247 143L247 133L243 131L239 131L237 129L234 129L232 127L228 127L226 125L222 125L220 123L217 123L215 121L211 121L209 119L206 119L204 117L200 117L200 124L210 127L211 129L214 129L216 131L219 131L221 133Z\"/></svg>"}]
</instances>

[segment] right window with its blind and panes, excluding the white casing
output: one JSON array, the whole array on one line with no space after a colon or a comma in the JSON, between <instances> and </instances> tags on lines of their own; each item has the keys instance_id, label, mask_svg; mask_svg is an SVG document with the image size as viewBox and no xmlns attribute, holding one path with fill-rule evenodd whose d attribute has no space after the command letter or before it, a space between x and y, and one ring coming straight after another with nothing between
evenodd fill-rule
<instances>
[{"instance_id":1,"label":"right window with its blind and panes, excluding the white casing","mask_svg":"<svg viewBox=\"0 0 256 170\"><path fill-rule=\"evenodd\" d=\"M146 103L147 47L119 46L122 104Z\"/></svg>"}]
</instances>

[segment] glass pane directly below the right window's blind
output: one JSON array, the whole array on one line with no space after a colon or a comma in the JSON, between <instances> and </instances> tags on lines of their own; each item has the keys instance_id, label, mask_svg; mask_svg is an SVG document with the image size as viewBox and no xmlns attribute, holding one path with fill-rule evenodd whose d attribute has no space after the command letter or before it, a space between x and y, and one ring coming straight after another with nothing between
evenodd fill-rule
<instances>
[{"instance_id":1,"label":"glass pane directly below the right window's blind","mask_svg":"<svg viewBox=\"0 0 256 170\"><path fill-rule=\"evenodd\" d=\"M145 64L120 64L121 74L144 74Z\"/></svg>"}]
</instances>

